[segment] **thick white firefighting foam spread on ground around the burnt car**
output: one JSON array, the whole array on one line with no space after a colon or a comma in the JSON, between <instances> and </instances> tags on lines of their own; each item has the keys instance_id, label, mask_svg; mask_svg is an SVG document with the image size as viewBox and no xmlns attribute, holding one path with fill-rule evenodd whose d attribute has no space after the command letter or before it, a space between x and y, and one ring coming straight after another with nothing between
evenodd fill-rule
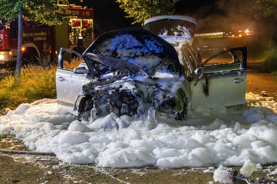
<instances>
[{"instance_id":1,"label":"thick white firefighting foam spread on ground around the burnt car","mask_svg":"<svg viewBox=\"0 0 277 184\"><path fill-rule=\"evenodd\" d=\"M102 167L209 167L277 161L277 103L246 94L245 110L188 111L184 121L150 122L115 114L78 122L72 108L39 100L7 109L0 134L15 135L35 151L68 163ZM207 171L208 172L208 171Z\"/></svg>"}]
</instances>

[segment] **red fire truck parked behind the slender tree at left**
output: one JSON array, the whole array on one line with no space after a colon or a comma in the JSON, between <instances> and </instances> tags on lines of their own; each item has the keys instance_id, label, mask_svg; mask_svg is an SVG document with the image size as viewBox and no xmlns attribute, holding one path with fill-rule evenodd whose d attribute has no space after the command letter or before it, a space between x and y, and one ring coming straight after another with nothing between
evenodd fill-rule
<instances>
[{"instance_id":1,"label":"red fire truck parked behind the slender tree at left","mask_svg":"<svg viewBox=\"0 0 277 184\"><path fill-rule=\"evenodd\" d=\"M66 5L60 5L68 8ZM43 59L55 62L59 49L76 50L75 42L85 30L86 43L91 44L93 34L93 9L72 5L74 19L70 23L48 26L37 21L22 20L22 64L38 64ZM27 12L24 12L27 13ZM0 67L15 67L17 60L18 20L5 26L0 19Z\"/></svg>"}]
</instances>

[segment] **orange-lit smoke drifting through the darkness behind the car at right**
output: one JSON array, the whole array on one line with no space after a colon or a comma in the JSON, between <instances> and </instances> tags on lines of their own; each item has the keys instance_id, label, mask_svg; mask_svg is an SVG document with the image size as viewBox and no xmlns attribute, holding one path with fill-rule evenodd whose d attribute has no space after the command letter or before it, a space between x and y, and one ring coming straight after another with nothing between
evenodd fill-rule
<instances>
[{"instance_id":1,"label":"orange-lit smoke drifting through the darkness behind the car at right","mask_svg":"<svg viewBox=\"0 0 277 184\"><path fill-rule=\"evenodd\" d=\"M196 33L232 32L253 30L253 35L241 39L194 39L193 46L247 46L248 56L256 57L258 53L276 45L276 21L263 17L254 8L255 0L218 0L213 4L200 6L195 10L197 18ZM193 13L190 11L193 15Z\"/></svg>"}]
</instances>

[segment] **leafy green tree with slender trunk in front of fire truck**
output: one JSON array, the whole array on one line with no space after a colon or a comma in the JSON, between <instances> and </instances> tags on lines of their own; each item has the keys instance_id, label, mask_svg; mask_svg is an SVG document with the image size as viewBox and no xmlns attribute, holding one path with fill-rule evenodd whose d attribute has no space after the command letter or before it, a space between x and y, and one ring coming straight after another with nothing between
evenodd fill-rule
<instances>
[{"instance_id":1,"label":"leafy green tree with slender trunk in front of fire truck","mask_svg":"<svg viewBox=\"0 0 277 184\"><path fill-rule=\"evenodd\" d=\"M68 0L63 0L68 5ZM0 1L0 19L6 21L6 26L18 19L18 47L15 71L15 82L20 75L21 67L21 46L22 46L22 19L38 21L40 24L54 25L63 21L69 22L73 15L71 11L62 8L56 0L2 0ZM23 14L26 11L27 14ZM69 15L69 16L63 16Z\"/></svg>"}]
</instances>

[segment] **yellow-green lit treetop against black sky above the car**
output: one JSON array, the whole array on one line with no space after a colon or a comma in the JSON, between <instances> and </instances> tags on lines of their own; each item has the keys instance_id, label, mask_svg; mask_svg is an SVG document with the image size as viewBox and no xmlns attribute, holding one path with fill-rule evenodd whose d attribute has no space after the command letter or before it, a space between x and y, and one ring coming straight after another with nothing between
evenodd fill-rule
<instances>
[{"instance_id":1,"label":"yellow-green lit treetop against black sky above the car","mask_svg":"<svg viewBox=\"0 0 277 184\"><path fill-rule=\"evenodd\" d=\"M127 18L133 17L135 23L142 23L149 17L158 15L170 15L174 12L172 9L179 0L117 0L120 8L129 14Z\"/></svg>"}]
</instances>

